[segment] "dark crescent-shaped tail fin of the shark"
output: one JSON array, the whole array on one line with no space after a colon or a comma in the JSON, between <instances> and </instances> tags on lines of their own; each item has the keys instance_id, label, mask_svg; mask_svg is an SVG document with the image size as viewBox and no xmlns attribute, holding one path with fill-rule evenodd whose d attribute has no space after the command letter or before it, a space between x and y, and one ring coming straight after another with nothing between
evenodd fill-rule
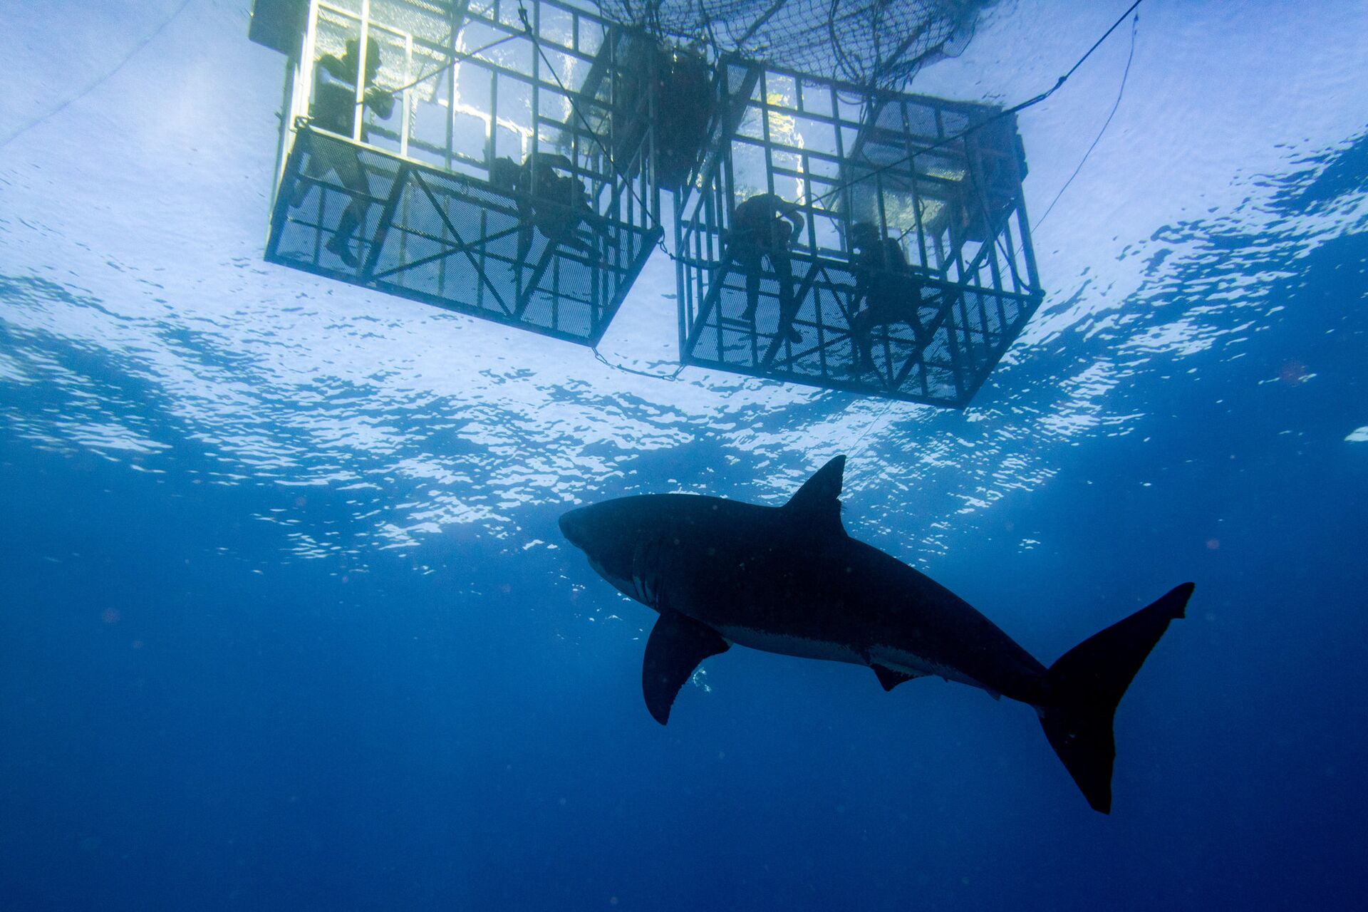
<instances>
[{"instance_id":1,"label":"dark crescent-shaped tail fin of the shark","mask_svg":"<svg viewBox=\"0 0 1368 912\"><path fill-rule=\"evenodd\" d=\"M1094 811L1111 812L1116 759L1116 704L1168 622L1183 617L1193 584L1185 582L1124 621L1118 621L1060 656L1045 680L1051 699L1040 723L1055 753Z\"/></svg>"}]
</instances>

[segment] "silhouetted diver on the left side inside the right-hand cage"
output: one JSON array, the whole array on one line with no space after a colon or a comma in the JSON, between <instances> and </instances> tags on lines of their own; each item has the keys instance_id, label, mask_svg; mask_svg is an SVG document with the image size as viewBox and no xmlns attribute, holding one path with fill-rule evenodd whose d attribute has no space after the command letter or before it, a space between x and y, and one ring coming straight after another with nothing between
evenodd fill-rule
<instances>
[{"instance_id":1,"label":"silhouetted diver on the left side inside the right-hand cage","mask_svg":"<svg viewBox=\"0 0 1368 912\"><path fill-rule=\"evenodd\" d=\"M798 314L793 301L793 267L788 258L788 245L803 230L803 216L798 204L773 193L757 194L732 212L732 230L726 237L724 264L736 263L746 273L746 310L743 320L755 320L755 306L761 297L763 260L778 282L778 330L791 342L802 342L803 334L792 325Z\"/></svg>"}]
</instances>

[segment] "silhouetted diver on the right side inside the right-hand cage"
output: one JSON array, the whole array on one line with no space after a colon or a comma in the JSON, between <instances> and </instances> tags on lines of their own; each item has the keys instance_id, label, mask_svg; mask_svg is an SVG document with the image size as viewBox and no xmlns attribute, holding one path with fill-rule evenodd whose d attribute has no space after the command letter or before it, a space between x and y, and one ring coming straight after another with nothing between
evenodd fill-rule
<instances>
[{"instance_id":1,"label":"silhouetted diver on the right side inside the right-hand cage","mask_svg":"<svg viewBox=\"0 0 1368 912\"><path fill-rule=\"evenodd\" d=\"M850 242L856 252L851 258L855 299L865 305L851 319L851 338L855 340L851 373L860 375L877 371L870 339L874 327L906 323L921 336L918 308L923 301L923 284L907 265L902 245L885 237L874 224L852 224Z\"/></svg>"}]
</instances>

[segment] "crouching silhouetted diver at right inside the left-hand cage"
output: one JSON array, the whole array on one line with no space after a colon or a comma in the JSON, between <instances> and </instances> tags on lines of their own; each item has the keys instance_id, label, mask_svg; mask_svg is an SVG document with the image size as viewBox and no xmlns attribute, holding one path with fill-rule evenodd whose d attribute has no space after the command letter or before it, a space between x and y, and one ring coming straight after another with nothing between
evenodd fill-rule
<instances>
[{"instance_id":1,"label":"crouching silhouetted diver at right inside the left-hand cage","mask_svg":"<svg viewBox=\"0 0 1368 912\"><path fill-rule=\"evenodd\" d=\"M529 155L521 165L506 157L495 159L490 165L490 183L516 194L517 263L524 263L532 249L534 228L550 245L575 247L587 256L596 254L598 247L591 235L580 231L581 224L613 243L607 220L590 205L590 196L573 171L570 160L558 152Z\"/></svg>"}]
</instances>

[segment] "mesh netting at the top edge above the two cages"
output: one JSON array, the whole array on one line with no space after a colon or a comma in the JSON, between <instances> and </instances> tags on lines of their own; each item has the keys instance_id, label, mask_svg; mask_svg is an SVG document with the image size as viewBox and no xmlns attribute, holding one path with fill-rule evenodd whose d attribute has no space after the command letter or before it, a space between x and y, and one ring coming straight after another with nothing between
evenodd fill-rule
<instances>
[{"instance_id":1,"label":"mesh netting at the top edge above the two cages","mask_svg":"<svg viewBox=\"0 0 1368 912\"><path fill-rule=\"evenodd\" d=\"M722 52L878 88L964 49L990 0L598 0L603 15Z\"/></svg>"}]
</instances>

